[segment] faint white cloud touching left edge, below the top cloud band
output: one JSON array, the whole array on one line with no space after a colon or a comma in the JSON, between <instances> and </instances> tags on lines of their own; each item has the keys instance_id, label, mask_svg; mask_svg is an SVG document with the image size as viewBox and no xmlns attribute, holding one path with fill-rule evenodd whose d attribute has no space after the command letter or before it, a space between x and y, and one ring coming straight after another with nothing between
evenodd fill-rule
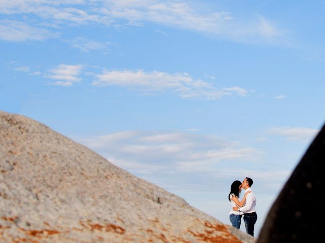
<instances>
[{"instance_id":1,"label":"faint white cloud touching left edge, below the top cloud band","mask_svg":"<svg viewBox=\"0 0 325 243\"><path fill-rule=\"evenodd\" d=\"M29 26L19 21L0 21L0 39L8 42L43 41L46 38L56 37L50 31Z\"/></svg>"}]
</instances>

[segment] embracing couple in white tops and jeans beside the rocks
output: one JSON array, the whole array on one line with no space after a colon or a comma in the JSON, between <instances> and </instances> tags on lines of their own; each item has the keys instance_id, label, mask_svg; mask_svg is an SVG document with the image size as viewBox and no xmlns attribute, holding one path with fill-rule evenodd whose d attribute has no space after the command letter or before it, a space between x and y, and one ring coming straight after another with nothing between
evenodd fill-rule
<instances>
[{"instance_id":1,"label":"embracing couple in white tops and jeans beside the rocks","mask_svg":"<svg viewBox=\"0 0 325 243\"><path fill-rule=\"evenodd\" d=\"M244 215L246 233L254 236L254 225L257 220L257 215L255 211L256 197L250 189L252 184L253 180L248 177L246 177L243 182L234 181L232 183L228 199L232 204L232 210L229 213L229 218L232 225L239 229L242 216ZM241 200L239 198L239 193L241 192L242 188L245 189L245 195Z\"/></svg>"}]
</instances>

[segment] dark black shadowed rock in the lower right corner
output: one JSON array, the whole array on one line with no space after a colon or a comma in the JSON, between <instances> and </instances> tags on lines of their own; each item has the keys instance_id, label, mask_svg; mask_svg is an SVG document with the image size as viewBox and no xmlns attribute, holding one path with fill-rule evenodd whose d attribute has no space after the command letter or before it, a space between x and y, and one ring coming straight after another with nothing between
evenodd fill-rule
<instances>
[{"instance_id":1,"label":"dark black shadowed rock in the lower right corner","mask_svg":"<svg viewBox=\"0 0 325 243\"><path fill-rule=\"evenodd\" d=\"M321 241L324 237L324 163L325 126L282 188L257 242Z\"/></svg>"}]
</instances>

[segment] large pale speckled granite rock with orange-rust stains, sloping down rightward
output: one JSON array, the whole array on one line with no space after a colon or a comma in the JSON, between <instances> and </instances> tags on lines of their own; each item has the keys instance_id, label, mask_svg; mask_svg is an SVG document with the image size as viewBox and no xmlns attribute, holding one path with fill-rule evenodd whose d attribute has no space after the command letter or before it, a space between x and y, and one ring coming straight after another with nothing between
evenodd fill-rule
<instances>
[{"instance_id":1,"label":"large pale speckled granite rock with orange-rust stains, sloping down rightward","mask_svg":"<svg viewBox=\"0 0 325 243\"><path fill-rule=\"evenodd\" d=\"M35 120L0 144L0 242L254 242Z\"/></svg>"}]
</instances>

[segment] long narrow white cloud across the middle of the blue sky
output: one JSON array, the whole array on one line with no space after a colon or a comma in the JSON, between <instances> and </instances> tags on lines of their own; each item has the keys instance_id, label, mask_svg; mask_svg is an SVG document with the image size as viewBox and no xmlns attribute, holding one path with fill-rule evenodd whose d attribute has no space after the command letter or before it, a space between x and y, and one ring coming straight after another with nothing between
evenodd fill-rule
<instances>
[{"instance_id":1,"label":"long narrow white cloud across the middle of the blue sky","mask_svg":"<svg viewBox=\"0 0 325 243\"><path fill-rule=\"evenodd\" d=\"M92 85L120 86L141 91L170 91L183 98L220 99L224 96L246 96L248 91L239 87L215 88L201 79L194 79L188 73L166 73L143 70L107 71L96 75Z\"/></svg>"}]
</instances>

